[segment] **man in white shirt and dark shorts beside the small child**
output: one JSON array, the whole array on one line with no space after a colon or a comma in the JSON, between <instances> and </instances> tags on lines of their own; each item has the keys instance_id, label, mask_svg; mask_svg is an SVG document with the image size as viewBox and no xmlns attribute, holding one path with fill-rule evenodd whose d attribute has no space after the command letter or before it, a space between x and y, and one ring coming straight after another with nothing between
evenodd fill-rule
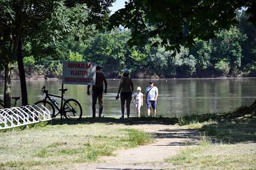
<instances>
[{"instance_id":1,"label":"man in white shirt and dark shorts beside the small child","mask_svg":"<svg viewBox=\"0 0 256 170\"><path fill-rule=\"evenodd\" d=\"M156 100L158 98L158 88L154 86L153 81L149 81L150 86L146 88L146 102L148 108L148 116L150 116L150 108L153 108L153 116L156 116Z\"/></svg>"}]
</instances>

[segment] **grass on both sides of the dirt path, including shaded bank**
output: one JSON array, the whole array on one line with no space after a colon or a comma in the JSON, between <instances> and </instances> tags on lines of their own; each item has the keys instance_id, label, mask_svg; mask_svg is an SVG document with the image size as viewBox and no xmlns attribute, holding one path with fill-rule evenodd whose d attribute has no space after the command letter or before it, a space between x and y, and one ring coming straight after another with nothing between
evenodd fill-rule
<instances>
[{"instance_id":1,"label":"grass on both sides of the dirt path, including shaded bank","mask_svg":"<svg viewBox=\"0 0 256 170\"><path fill-rule=\"evenodd\" d=\"M9 168L56 168L61 164L99 161L120 148L154 142L147 133L127 129L121 124L176 124L198 129L198 146L184 147L166 160L177 169L244 169L256 168L256 117L244 114L245 108L232 113L193 115L182 118L82 118L79 124L53 119L1 131L0 165ZM48 126L45 126L49 124Z\"/></svg>"}]
</instances>

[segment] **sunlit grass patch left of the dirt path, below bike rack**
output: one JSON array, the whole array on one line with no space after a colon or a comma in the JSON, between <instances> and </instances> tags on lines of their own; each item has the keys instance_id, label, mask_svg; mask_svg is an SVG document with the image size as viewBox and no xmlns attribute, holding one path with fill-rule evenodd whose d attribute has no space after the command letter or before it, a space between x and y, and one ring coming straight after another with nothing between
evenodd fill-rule
<instances>
[{"instance_id":1,"label":"sunlit grass patch left of the dirt path, below bike rack","mask_svg":"<svg viewBox=\"0 0 256 170\"><path fill-rule=\"evenodd\" d=\"M119 124L81 123L0 132L0 169L47 169L61 164L98 161L118 148L145 145L145 132ZM52 167L52 168L53 168Z\"/></svg>"}]
</instances>

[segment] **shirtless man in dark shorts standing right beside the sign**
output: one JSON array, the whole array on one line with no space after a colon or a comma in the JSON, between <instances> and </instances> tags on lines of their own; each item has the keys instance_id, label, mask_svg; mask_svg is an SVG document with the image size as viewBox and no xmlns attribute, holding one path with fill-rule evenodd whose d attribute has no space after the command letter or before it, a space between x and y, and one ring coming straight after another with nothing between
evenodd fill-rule
<instances>
[{"instance_id":1,"label":"shirtless man in dark shorts standing right beside the sign","mask_svg":"<svg viewBox=\"0 0 256 170\"><path fill-rule=\"evenodd\" d=\"M103 82L105 83L105 94L107 92L108 83L106 82L106 78L103 72L101 72L102 67L96 67L96 81L95 85L92 87L92 117L96 116L96 103L98 99L99 103L99 118L101 117L101 113L103 111ZM87 94L90 95L90 86L87 86Z\"/></svg>"}]
</instances>

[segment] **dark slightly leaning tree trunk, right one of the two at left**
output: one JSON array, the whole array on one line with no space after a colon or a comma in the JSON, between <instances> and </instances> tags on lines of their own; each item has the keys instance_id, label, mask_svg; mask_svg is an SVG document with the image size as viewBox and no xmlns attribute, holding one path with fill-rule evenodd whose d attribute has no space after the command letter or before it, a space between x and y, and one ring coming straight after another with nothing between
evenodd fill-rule
<instances>
[{"instance_id":1,"label":"dark slightly leaning tree trunk, right one of the two at left","mask_svg":"<svg viewBox=\"0 0 256 170\"><path fill-rule=\"evenodd\" d=\"M20 90L22 94L22 105L28 105L28 94L27 94L27 85L26 85L26 77L25 70L23 65L23 57L22 57L22 40L20 39L18 47L17 47L17 62L19 68L20 75Z\"/></svg>"}]
</instances>

